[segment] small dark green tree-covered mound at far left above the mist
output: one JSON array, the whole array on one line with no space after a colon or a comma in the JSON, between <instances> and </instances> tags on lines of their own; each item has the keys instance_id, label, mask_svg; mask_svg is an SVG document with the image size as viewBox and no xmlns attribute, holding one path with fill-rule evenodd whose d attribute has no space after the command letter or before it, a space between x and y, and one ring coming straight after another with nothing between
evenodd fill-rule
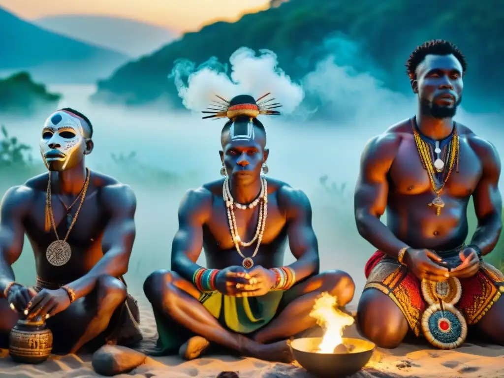
<instances>
[{"instance_id":1,"label":"small dark green tree-covered mound at far left above the mist","mask_svg":"<svg viewBox=\"0 0 504 378\"><path fill-rule=\"evenodd\" d=\"M45 85L35 83L27 72L0 79L0 113L26 116L54 108L60 98L59 94L49 93Z\"/></svg>"}]
</instances>

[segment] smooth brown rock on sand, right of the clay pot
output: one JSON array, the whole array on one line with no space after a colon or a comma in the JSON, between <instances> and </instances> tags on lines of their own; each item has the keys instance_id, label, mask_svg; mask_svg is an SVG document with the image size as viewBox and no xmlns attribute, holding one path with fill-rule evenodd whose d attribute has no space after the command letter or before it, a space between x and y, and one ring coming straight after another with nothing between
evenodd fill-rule
<instances>
[{"instance_id":1,"label":"smooth brown rock on sand, right of the clay pot","mask_svg":"<svg viewBox=\"0 0 504 378\"><path fill-rule=\"evenodd\" d=\"M111 376L133 370L145 362L146 355L136 350L104 345L93 354L91 364L98 374Z\"/></svg>"}]
</instances>

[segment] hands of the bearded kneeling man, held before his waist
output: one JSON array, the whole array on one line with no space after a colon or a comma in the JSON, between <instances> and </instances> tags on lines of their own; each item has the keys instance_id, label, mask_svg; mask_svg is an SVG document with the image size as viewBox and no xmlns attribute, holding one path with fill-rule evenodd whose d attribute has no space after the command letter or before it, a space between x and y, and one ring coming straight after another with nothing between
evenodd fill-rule
<instances>
[{"instance_id":1,"label":"hands of the bearded kneeling man, held before his waist","mask_svg":"<svg viewBox=\"0 0 504 378\"><path fill-rule=\"evenodd\" d=\"M408 249L408 268L420 280L446 281L449 277L469 278L479 270L479 257L471 247L466 247L459 254L462 263L449 270L439 256L429 249Z\"/></svg>"}]
</instances>

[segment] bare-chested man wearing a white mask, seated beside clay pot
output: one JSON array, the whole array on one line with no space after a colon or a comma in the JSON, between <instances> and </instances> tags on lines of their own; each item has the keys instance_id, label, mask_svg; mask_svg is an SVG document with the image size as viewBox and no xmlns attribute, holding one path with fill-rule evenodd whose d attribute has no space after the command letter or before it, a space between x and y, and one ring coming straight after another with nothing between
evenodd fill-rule
<instances>
[{"instance_id":1,"label":"bare-chested man wearing a white mask, seated beside clay pot","mask_svg":"<svg viewBox=\"0 0 504 378\"><path fill-rule=\"evenodd\" d=\"M138 308L122 275L135 239L131 188L86 168L93 128L78 111L51 114L40 133L48 173L12 187L0 210L0 331L3 347L16 322L46 320L55 353L105 342L140 341ZM35 255L34 287L15 281L24 234Z\"/></svg>"}]
</instances>

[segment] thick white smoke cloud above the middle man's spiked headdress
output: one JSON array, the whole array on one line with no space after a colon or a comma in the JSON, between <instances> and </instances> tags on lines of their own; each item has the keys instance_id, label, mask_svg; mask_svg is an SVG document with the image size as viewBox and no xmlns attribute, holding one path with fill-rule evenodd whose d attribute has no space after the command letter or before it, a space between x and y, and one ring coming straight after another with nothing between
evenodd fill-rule
<instances>
[{"instance_id":1,"label":"thick white smoke cloud above the middle man's spiked headdress","mask_svg":"<svg viewBox=\"0 0 504 378\"><path fill-rule=\"evenodd\" d=\"M187 60L176 62L170 77L173 77L178 95L187 109L205 109L216 99L216 94L230 100L239 94L258 98L271 92L275 102L282 104L282 108L277 110L290 114L303 100L302 87L292 82L278 67L277 55L273 51L260 50L259 56L256 56L254 50L241 47L231 55L229 61L230 77L221 72L225 66L217 64L215 58L198 69Z\"/></svg>"}]
</instances>

